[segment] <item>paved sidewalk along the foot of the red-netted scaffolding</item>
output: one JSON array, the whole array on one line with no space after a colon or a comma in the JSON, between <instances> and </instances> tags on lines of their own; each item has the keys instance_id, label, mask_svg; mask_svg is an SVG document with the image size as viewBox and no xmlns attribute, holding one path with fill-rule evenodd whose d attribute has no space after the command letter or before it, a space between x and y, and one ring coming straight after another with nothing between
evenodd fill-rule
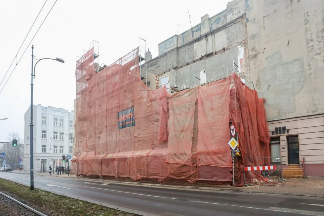
<instances>
[{"instance_id":1,"label":"paved sidewalk along the foot of the red-netted scaffolding","mask_svg":"<svg viewBox=\"0 0 324 216\"><path fill-rule=\"evenodd\" d=\"M50 176L48 173L38 174L40 176ZM179 189L201 189L201 190L233 190L233 186L228 185L208 185L208 184L157 184L156 182L141 182L141 181L117 181L104 180L98 178L77 177L75 175L68 176L67 174L56 175L52 174L53 178L74 178L84 179L87 181L112 183L112 184L136 184L148 187L167 187ZM255 182L254 185L248 187L235 187L235 190L246 193L265 193L265 194L283 194L283 195L298 195L298 196L315 196L324 198L324 177L308 177L308 178L286 178L286 182L278 182L270 178L269 182Z\"/></svg>"}]
</instances>

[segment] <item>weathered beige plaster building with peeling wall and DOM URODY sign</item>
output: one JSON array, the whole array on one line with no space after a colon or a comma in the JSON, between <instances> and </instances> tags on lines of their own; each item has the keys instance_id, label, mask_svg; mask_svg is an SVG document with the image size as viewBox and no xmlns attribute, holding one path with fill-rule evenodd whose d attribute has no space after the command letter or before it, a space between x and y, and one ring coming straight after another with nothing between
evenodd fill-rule
<instances>
[{"instance_id":1,"label":"weathered beige plaster building with peeling wall and DOM URODY sign","mask_svg":"<svg viewBox=\"0 0 324 216\"><path fill-rule=\"evenodd\" d=\"M308 176L323 176L323 40L323 0L234 0L158 44L147 73L167 75L169 86L182 90L228 76L234 61L235 72L266 98L269 132L280 137L282 164L305 159ZM290 132L274 132L283 127ZM298 137L298 160L289 159L292 136Z\"/></svg>"}]
</instances>

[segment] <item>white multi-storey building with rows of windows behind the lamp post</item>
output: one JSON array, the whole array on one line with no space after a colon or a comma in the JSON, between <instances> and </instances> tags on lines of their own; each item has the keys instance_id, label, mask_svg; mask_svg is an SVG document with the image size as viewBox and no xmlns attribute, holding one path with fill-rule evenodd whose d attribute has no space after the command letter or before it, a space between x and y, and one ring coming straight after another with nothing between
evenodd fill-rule
<instances>
[{"instance_id":1,"label":"white multi-storey building with rows of windows behind the lamp post","mask_svg":"<svg viewBox=\"0 0 324 216\"><path fill-rule=\"evenodd\" d=\"M30 107L25 113L24 170L30 171ZM73 156L74 111L33 105L34 172L46 172L49 167L71 166L63 163L63 155Z\"/></svg>"}]
</instances>

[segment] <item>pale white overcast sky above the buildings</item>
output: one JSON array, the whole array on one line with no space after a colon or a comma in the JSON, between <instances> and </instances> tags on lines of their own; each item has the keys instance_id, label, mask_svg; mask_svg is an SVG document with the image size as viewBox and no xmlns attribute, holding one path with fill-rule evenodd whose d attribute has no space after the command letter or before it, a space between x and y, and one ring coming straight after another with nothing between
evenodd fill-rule
<instances>
[{"instance_id":1,"label":"pale white overcast sky above the buildings","mask_svg":"<svg viewBox=\"0 0 324 216\"><path fill-rule=\"evenodd\" d=\"M29 28L45 0L2 1L0 7L0 82L15 57ZM17 61L26 49L55 0L47 0L29 33ZM100 64L109 65L139 46L139 37L153 58L158 43L226 9L229 0L108 1L58 0L32 41L36 58L61 57L65 63L41 61L34 80L34 105L73 110L75 99L76 56L88 50L92 40L99 42ZM12 72L10 68L7 77ZM30 106L31 45L0 93L0 142L8 133L18 131L24 137L24 114ZM4 82L6 81L4 80ZM0 90L4 83L0 86Z\"/></svg>"}]
</instances>

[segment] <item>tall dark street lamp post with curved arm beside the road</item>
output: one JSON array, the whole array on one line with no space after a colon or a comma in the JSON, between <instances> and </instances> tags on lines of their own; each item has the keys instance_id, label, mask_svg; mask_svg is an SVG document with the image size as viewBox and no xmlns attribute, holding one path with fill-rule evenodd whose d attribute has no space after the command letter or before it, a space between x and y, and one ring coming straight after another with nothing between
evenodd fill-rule
<instances>
[{"instance_id":1,"label":"tall dark street lamp post with curved arm beside the road","mask_svg":"<svg viewBox=\"0 0 324 216\"><path fill-rule=\"evenodd\" d=\"M37 63L44 59L50 59L64 63L64 60L61 58L51 59L51 58L42 58L38 60L33 68L34 63L34 45L31 46L31 83L30 83L30 190L34 189L34 124L33 124L33 79L35 79L35 68Z\"/></svg>"}]
</instances>

